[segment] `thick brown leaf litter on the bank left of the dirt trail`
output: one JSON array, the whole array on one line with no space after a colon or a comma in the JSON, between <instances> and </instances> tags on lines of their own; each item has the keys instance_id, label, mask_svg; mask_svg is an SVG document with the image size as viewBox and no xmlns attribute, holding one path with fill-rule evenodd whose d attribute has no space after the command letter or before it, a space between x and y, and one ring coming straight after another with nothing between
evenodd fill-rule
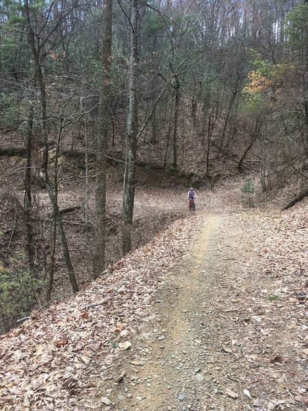
<instances>
[{"instance_id":1,"label":"thick brown leaf litter on the bank left of the dirt trail","mask_svg":"<svg viewBox=\"0 0 308 411\"><path fill-rule=\"evenodd\" d=\"M84 292L1 336L0 409L80 409L77 395L93 389L118 343L150 315L160 276L189 244L189 224L173 223Z\"/></svg>"}]
</instances>

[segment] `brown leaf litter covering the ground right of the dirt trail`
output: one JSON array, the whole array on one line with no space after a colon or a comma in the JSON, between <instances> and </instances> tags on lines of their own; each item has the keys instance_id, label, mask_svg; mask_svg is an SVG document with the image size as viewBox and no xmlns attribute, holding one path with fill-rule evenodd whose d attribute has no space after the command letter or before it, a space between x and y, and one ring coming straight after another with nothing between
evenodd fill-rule
<instances>
[{"instance_id":1,"label":"brown leaf litter covering the ground right of the dirt trail","mask_svg":"<svg viewBox=\"0 0 308 411\"><path fill-rule=\"evenodd\" d=\"M253 210L236 218L247 232L248 246L259 258L247 267L253 288L246 298L253 322L246 326L246 333L251 345L259 347L261 356L248 360L264 364L266 368L258 372L259 380L265 389L266 382L268 386L275 382L273 396L280 390L294 404L292 409L306 409L308 201L285 212ZM274 408L268 406L267 410Z\"/></svg>"}]
</instances>

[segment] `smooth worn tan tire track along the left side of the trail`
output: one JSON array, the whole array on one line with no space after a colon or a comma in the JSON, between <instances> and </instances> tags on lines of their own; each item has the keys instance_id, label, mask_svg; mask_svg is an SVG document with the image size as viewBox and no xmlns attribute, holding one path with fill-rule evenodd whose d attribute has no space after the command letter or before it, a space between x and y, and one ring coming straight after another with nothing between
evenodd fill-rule
<instances>
[{"instance_id":1,"label":"smooth worn tan tire track along the left side of the trail","mask_svg":"<svg viewBox=\"0 0 308 411\"><path fill-rule=\"evenodd\" d=\"M164 278L166 287L155 304L155 324L129 353L129 364L122 364L122 371L127 371L125 381L110 387L118 410L206 409L202 405L205 310L222 220L216 214L198 214L204 226L196 246Z\"/></svg>"}]
</instances>

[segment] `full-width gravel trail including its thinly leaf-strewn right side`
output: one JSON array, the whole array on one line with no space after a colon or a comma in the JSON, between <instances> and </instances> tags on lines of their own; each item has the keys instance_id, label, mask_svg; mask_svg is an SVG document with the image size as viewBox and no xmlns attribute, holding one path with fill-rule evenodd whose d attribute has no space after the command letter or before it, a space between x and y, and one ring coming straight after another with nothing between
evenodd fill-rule
<instances>
[{"instance_id":1,"label":"full-width gravel trail including its thinly leaf-strewn right side","mask_svg":"<svg viewBox=\"0 0 308 411\"><path fill-rule=\"evenodd\" d=\"M194 248L164 277L154 320L125 351L99 409L305 410L285 388L300 384L296 364L270 363L282 341L289 352L295 342L279 325L279 307L260 302L271 280L252 275L258 256L245 249L236 221L198 214Z\"/></svg>"}]
</instances>

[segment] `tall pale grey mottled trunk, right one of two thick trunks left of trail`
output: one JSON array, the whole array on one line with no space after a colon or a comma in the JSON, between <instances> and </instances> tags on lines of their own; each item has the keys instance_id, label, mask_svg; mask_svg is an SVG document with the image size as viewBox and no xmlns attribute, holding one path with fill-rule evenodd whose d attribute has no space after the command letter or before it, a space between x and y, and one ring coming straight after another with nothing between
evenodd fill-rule
<instances>
[{"instance_id":1,"label":"tall pale grey mottled trunk, right one of two thick trunks left of trail","mask_svg":"<svg viewBox=\"0 0 308 411\"><path fill-rule=\"evenodd\" d=\"M133 0L131 5L131 54L129 61L127 112L127 135L125 153L125 174L123 188L123 255L131 251L131 225L133 223L133 202L135 199L136 149L138 134L138 100L137 67L138 67L138 1Z\"/></svg>"}]
</instances>

